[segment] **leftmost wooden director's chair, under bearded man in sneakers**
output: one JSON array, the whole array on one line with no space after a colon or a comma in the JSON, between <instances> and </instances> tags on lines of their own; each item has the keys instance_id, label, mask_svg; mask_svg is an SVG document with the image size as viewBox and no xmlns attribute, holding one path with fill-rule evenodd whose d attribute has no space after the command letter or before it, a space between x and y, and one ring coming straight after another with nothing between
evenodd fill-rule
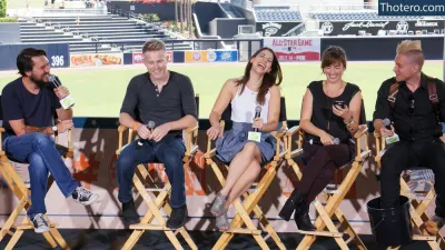
<instances>
[{"instance_id":1,"label":"leftmost wooden director's chair, under bearded man in sneakers","mask_svg":"<svg viewBox=\"0 0 445 250\"><path fill-rule=\"evenodd\" d=\"M1 97L0 97L0 122L2 120L3 117L1 112ZM17 173L17 171L11 164L11 162L28 164L28 162L14 159L13 157L9 156L6 151L3 151L2 137L1 137L2 136L1 133L3 132L4 129L0 127L0 174L4 179L6 183L11 189L13 194L19 199L19 203L12 210L11 214L9 216L8 220L4 222L0 231L0 242L7 234L11 236L11 239L8 241L8 244L6 247L6 250L11 250L17 244L20 237L23 234L24 230L33 229L33 224L27 214L24 214L24 218L21 220L20 223L16 223L20 216L20 212L22 210L27 211L31 206L31 199L30 199L31 190L27 188L23 180L20 178L20 176ZM72 159L73 149L71 143L71 130L68 130L68 148L57 144L58 137L56 137L55 140L56 140L56 148L58 149L60 154L66 159L67 158ZM48 180L47 191L51 188L52 182L53 180L50 177ZM49 218L47 217L47 219ZM56 228L57 224L52 223L50 220L48 221L50 231L42 233L44 239L52 248L57 248L58 246L60 246L61 249L69 250L67 242L63 240L62 236Z\"/></svg>"}]
</instances>

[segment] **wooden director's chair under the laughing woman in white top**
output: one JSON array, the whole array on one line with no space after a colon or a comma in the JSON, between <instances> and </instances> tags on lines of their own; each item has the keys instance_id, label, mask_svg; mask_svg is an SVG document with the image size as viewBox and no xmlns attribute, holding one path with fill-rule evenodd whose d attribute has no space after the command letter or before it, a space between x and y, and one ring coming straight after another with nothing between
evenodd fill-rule
<instances>
[{"instance_id":1,"label":"wooden director's chair under the laughing woman in white top","mask_svg":"<svg viewBox=\"0 0 445 250\"><path fill-rule=\"evenodd\" d=\"M264 168L264 173L261 177L261 173L259 174L259 181L253 183L253 188L248 190L246 193L243 194L245 201L241 204L239 199L236 199L234 201L235 209L237 211L237 214L230 222L230 229L227 231L224 231L216 244L214 246L214 250L217 249L225 249L229 241L234 238L236 233L245 233L245 234L251 234L254 239L257 241L259 247L261 249L269 249L269 247L266 243L265 238L261 237L261 230L258 230L255 226L254 222L251 221L249 214L254 211L255 216L258 218L259 223L263 226L265 231L273 238L275 243L278 246L279 249L284 250L286 247L279 239L277 232L274 230L274 228L270 226L269 221L267 220L265 213L261 211L261 209L258 207L259 200L263 198L265 194L267 188L270 186L271 181L274 180L274 177L277 173L277 169L280 166L281 161L284 160L284 156L286 153L285 150L281 150L281 140L284 139L284 134L287 130L287 116L286 116L286 103L285 103L285 98L280 98L280 114L279 114L279 122L281 123L281 128L271 133L275 139L277 140L277 147L275 151L275 157L274 159ZM225 129L229 130L231 128L231 106L229 104L226 110L224 111L220 120L220 126L221 126L221 134L224 133ZM284 146L285 143L283 143ZM221 170L218 167L218 163L224 164L226 169L228 169L228 164L225 162L221 162L217 157L217 151L216 148L211 148L211 140L208 138L207 140L207 152L205 153L205 159L207 164L209 164L215 172L219 183L224 187L226 183L225 176L222 174ZM250 193L248 193L251 191ZM241 228L244 224L246 224L247 228Z\"/></svg>"}]
</instances>

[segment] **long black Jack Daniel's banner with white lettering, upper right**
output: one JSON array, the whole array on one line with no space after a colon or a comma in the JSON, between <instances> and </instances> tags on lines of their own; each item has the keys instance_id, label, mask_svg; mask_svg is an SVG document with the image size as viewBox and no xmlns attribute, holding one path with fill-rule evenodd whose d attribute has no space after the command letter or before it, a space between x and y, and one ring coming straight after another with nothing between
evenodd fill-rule
<instances>
[{"instance_id":1,"label":"long black Jack Daniel's banner with white lettering, upper right","mask_svg":"<svg viewBox=\"0 0 445 250\"><path fill-rule=\"evenodd\" d=\"M444 33L443 20L378 20L378 21L320 21L320 29L325 36L342 36L342 34L359 34L359 31L370 33L372 36L378 34L379 30L396 31L398 34L408 34L421 32L422 34L428 33ZM409 32L412 31L412 32Z\"/></svg>"}]
</instances>

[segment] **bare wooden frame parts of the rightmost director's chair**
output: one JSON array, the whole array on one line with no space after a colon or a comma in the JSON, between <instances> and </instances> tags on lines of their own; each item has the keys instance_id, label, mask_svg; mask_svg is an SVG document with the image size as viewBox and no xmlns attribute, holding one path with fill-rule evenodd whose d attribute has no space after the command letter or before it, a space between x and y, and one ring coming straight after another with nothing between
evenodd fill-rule
<instances>
[{"instance_id":1,"label":"bare wooden frame parts of the rightmost director's chair","mask_svg":"<svg viewBox=\"0 0 445 250\"><path fill-rule=\"evenodd\" d=\"M376 144L376 156L375 161L377 162L378 169L382 168L382 156L385 150L386 143L385 140L377 133L374 133L375 144ZM429 189L428 192L424 197L416 196L411 189L409 186L406 183L405 179L400 176L400 196L407 197L409 202L409 213L412 226L414 229L417 229L421 234L414 234L413 240L415 241L426 241L433 250L445 249L445 240L437 232L436 236L429 236L422 226L424 222L429 220L429 217L425 213L426 209L428 208L429 203L433 201L434 197L436 196L434 188ZM388 248L388 249L399 249L396 248Z\"/></svg>"}]
</instances>

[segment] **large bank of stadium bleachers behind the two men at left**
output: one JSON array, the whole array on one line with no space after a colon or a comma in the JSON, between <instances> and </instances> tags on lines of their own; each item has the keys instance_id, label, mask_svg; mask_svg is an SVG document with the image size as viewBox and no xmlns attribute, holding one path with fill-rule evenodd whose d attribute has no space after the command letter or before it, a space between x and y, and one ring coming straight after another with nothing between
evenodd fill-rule
<instances>
[{"instance_id":1,"label":"large bank of stadium bleachers behind the two men at left","mask_svg":"<svg viewBox=\"0 0 445 250\"><path fill-rule=\"evenodd\" d=\"M110 53L140 51L141 44L149 38L175 39L155 24L141 23L117 14L36 17L32 21L23 19L20 20L20 38L21 42L26 43L75 43L70 44L70 53L96 52L96 44L91 41L107 42L98 46L97 51ZM191 48L189 43L174 47L167 43L167 49Z\"/></svg>"}]
</instances>

